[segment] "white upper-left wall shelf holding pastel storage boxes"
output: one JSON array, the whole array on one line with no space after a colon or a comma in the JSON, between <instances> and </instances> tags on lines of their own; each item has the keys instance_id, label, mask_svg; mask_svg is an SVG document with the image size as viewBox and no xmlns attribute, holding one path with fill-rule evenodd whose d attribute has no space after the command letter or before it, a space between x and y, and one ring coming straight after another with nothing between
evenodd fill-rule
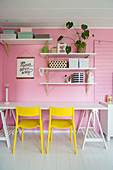
<instances>
[{"instance_id":1,"label":"white upper-left wall shelf holding pastel storage boxes","mask_svg":"<svg viewBox=\"0 0 113 170\"><path fill-rule=\"evenodd\" d=\"M3 40L8 43L8 44L37 44L37 45L45 45L48 41L49 44L53 43L53 39L52 38L48 38L48 39L0 39L0 42L3 44Z\"/></svg>"}]
</instances>

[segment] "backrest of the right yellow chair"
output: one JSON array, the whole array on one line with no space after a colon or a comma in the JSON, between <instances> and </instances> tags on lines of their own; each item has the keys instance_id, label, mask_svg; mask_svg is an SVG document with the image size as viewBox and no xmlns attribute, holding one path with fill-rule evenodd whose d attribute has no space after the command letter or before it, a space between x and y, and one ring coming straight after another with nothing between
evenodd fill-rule
<instances>
[{"instance_id":1,"label":"backrest of the right yellow chair","mask_svg":"<svg viewBox=\"0 0 113 170\"><path fill-rule=\"evenodd\" d=\"M58 117L67 117L74 115L74 107L50 107L50 115Z\"/></svg>"}]
</instances>

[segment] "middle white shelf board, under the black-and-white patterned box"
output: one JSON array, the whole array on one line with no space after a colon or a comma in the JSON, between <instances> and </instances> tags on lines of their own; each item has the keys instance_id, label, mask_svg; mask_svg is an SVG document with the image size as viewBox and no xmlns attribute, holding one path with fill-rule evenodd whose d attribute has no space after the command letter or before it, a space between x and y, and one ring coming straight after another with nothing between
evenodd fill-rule
<instances>
[{"instance_id":1,"label":"middle white shelf board, under the black-and-white patterned box","mask_svg":"<svg viewBox=\"0 0 113 170\"><path fill-rule=\"evenodd\" d=\"M68 71L71 71L71 70L95 70L96 68L44 68L44 70L49 70L49 71L65 71L65 70L68 70Z\"/></svg>"}]
</instances>

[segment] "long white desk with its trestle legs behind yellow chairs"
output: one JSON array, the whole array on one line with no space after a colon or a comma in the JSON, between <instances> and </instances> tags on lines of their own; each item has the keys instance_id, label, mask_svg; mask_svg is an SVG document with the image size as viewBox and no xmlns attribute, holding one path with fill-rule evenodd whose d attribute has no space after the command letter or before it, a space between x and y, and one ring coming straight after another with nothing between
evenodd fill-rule
<instances>
[{"instance_id":1,"label":"long white desk with its trestle legs behind yellow chairs","mask_svg":"<svg viewBox=\"0 0 113 170\"><path fill-rule=\"evenodd\" d=\"M83 139L83 143L82 143L82 149L84 148L84 145L86 142L103 142L105 148L107 148L97 113L99 110L107 110L108 108L103 105L100 105L98 103L74 103L74 102L70 102L70 103L66 103L66 102L65 103L61 103L61 102L60 103L10 102L9 104L0 103L0 113L1 113L2 122L3 122L3 129L5 132L5 137L3 139L6 140L8 147L10 147L10 141L9 141L9 135L8 135L8 130L7 130L7 126L6 126L6 119L4 116L4 110L8 110L8 109L11 110L13 113L13 116L15 118L13 109L16 109L16 106L21 106L21 107L41 106L42 110L48 110L50 106L53 106L53 107L72 107L72 106L74 106L75 110L89 111L89 118L87 121L87 126L85 127L85 131L84 131L84 139ZM99 135L92 136L91 134L88 135L88 130L90 129L89 124L92 119L93 119L93 121L92 121L93 122L93 130L95 130L95 117L97 118L101 136L99 136ZM79 126L79 130L80 129L81 129L81 125Z\"/></svg>"}]
</instances>

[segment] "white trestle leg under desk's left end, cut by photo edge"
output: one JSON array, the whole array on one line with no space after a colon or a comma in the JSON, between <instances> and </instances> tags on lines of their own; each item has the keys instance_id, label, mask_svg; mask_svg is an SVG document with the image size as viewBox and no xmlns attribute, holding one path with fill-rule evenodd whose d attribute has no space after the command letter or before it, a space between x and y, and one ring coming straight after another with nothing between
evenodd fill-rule
<instances>
[{"instance_id":1,"label":"white trestle leg under desk's left end, cut by photo edge","mask_svg":"<svg viewBox=\"0 0 113 170\"><path fill-rule=\"evenodd\" d=\"M12 112L12 115L13 115L14 120L15 120L14 110L11 110L10 112ZM2 119L2 123L3 123L3 129L0 130L0 140L6 141L8 148L10 148L11 144L10 144L9 136L12 134L12 132L14 130L14 126L7 126L6 125L6 118L7 118L8 110L6 110L5 115L4 115L4 110L2 110L2 111L0 110L0 114L1 114L1 119Z\"/></svg>"}]
</instances>

